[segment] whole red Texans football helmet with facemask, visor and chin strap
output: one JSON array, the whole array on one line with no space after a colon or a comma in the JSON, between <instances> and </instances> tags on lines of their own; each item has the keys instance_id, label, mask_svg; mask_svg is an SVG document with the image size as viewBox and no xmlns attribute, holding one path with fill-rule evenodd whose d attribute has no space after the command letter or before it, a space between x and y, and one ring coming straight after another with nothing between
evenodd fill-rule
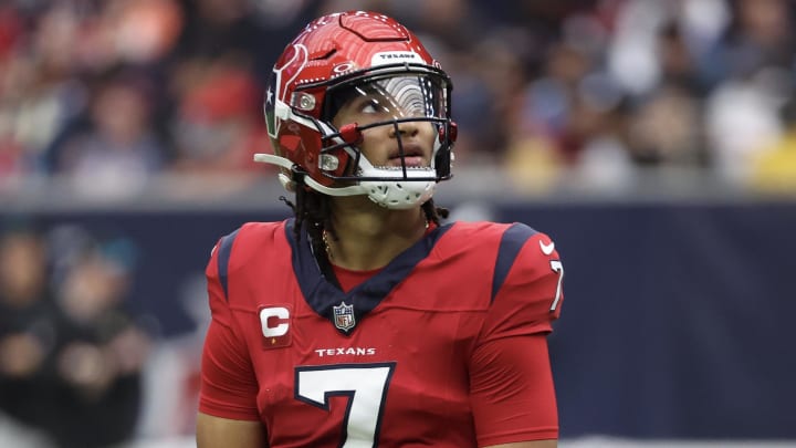
<instances>
[{"instance_id":1,"label":"whole red Texans football helmet with facemask, visor and chin strap","mask_svg":"<svg viewBox=\"0 0 796 448\"><path fill-rule=\"evenodd\" d=\"M331 196L368 195L388 208L415 207L451 177L451 88L439 63L394 19L363 11L322 17L274 65L264 112L275 155L254 159L285 168L280 180L289 190L303 184ZM380 115L389 119L334 126L337 111L362 95L379 112L392 111ZM406 122L433 127L430 167L407 166L398 132ZM376 126L395 128L400 167L374 166L357 147L363 131Z\"/></svg>"}]
</instances>

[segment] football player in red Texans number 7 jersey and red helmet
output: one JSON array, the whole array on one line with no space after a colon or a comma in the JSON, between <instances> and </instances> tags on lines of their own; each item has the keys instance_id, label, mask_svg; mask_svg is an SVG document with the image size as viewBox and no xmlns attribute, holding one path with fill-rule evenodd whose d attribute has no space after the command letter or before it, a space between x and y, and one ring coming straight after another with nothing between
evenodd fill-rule
<instances>
[{"instance_id":1,"label":"football player in red Texans number 7 jersey and red helmet","mask_svg":"<svg viewBox=\"0 0 796 448\"><path fill-rule=\"evenodd\" d=\"M197 442L209 447L554 447L553 241L443 223L451 80L395 20L310 23L264 98L294 218L221 238Z\"/></svg>"}]
</instances>

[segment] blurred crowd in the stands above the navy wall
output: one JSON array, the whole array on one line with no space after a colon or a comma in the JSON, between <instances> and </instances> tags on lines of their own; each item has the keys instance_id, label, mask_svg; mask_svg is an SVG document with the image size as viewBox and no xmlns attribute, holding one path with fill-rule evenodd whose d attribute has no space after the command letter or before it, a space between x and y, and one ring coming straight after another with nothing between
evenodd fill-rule
<instances>
[{"instance_id":1,"label":"blurred crowd in the stands above the navy wall","mask_svg":"<svg viewBox=\"0 0 796 448\"><path fill-rule=\"evenodd\" d=\"M57 178L115 197L161 175L244 188L268 169L251 155L269 150L273 61L346 9L396 17L451 74L460 169L534 191L653 171L796 191L788 0L9 0L0 190Z\"/></svg>"}]
</instances>

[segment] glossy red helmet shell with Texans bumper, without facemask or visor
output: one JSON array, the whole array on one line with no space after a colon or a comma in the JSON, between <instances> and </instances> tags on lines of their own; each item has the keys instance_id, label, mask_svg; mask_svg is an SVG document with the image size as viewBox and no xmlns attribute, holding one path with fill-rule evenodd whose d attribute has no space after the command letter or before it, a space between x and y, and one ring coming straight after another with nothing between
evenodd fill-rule
<instances>
[{"instance_id":1,"label":"glossy red helmet shell with Texans bumper, without facemask or visor","mask_svg":"<svg viewBox=\"0 0 796 448\"><path fill-rule=\"evenodd\" d=\"M331 185L333 179L318 167L322 137L336 131L322 116L327 88L356 73L402 62L439 69L415 34L387 15L349 11L307 24L276 61L266 90L265 122L275 154ZM333 154L339 165L326 173L339 176L349 155L343 149Z\"/></svg>"}]
</instances>

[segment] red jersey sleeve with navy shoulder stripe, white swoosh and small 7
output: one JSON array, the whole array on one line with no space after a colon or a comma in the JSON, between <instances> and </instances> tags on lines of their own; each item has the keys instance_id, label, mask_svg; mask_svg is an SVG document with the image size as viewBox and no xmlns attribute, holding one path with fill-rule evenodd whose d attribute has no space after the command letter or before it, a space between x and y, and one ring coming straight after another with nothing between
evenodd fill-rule
<instances>
[{"instance_id":1,"label":"red jersey sleeve with navy shoulder stripe, white swoosh and small 7","mask_svg":"<svg viewBox=\"0 0 796 448\"><path fill-rule=\"evenodd\" d=\"M561 313L562 280L546 235L524 225L504 232L492 303L470 362L479 446L558 438L546 336Z\"/></svg>"}]
</instances>

